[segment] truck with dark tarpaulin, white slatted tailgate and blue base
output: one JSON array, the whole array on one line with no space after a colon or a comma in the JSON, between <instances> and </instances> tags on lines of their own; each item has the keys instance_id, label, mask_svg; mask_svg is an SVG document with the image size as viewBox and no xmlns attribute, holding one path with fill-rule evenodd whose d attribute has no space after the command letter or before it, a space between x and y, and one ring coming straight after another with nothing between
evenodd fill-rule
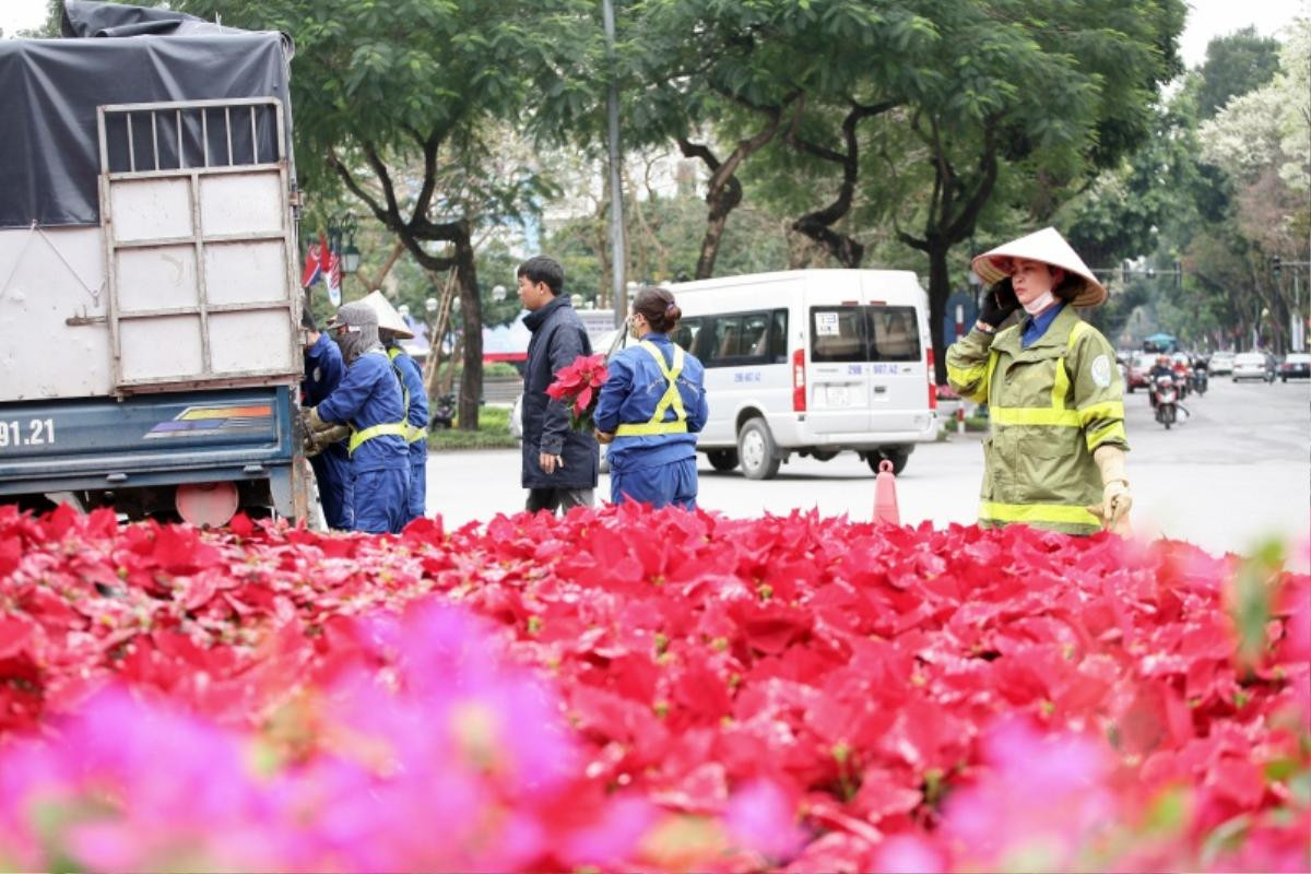
<instances>
[{"instance_id":1,"label":"truck with dark tarpaulin, white slatted tailgate and blue base","mask_svg":"<svg viewBox=\"0 0 1311 874\"><path fill-rule=\"evenodd\" d=\"M0 502L309 515L292 51L85 0L0 41Z\"/></svg>"}]
</instances>

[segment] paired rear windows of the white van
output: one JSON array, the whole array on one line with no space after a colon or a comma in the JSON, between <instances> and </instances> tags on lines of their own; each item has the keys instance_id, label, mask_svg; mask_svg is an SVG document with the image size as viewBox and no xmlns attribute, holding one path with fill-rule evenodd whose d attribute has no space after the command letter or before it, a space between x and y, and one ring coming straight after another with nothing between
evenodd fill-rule
<instances>
[{"instance_id":1,"label":"paired rear windows of the white van","mask_svg":"<svg viewBox=\"0 0 1311 874\"><path fill-rule=\"evenodd\" d=\"M812 307L810 360L918 362L914 307Z\"/></svg>"}]
</instances>

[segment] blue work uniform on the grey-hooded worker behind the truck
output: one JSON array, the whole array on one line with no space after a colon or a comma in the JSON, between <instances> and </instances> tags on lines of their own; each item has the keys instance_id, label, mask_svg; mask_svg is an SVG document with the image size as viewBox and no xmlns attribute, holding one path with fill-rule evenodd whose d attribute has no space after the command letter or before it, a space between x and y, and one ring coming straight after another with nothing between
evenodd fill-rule
<instances>
[{"instance_id":1,"label":"blue work uniform on the grey-hooded worker behind the truck","mask_svg":"<svg viewBox=\"0 0 1311 874\"><path fill-rule=\"evenodd\" d=\"M364 352L346 368L341 385L319 405L324 422L350 426L347 491L354 529L400 533L409 491L409 447L401 388L387 354Z\"/></svg>"}]
</instances>

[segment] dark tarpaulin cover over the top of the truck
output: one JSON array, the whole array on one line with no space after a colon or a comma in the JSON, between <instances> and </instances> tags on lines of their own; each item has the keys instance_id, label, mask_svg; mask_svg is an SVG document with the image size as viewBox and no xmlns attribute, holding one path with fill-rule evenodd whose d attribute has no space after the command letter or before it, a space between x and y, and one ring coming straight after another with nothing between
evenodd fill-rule
<instances>
[{"instance_id":1,"label":"dark tarpaulin cover over the top of the truck","mask_svg":"<svg viewBox=\"0 0 1311 874\"><path fill-rule=\"evenodd\" d=\"M277 97L288 107L290 45L161 9L68 0L66 39L0 39L0 228L100 224L96 109L110 104ZM218 113L222 117L222 111ZM267 114L266 114L267 115ZM174 113L134 114L136 169L180 165ZM126 128L126 117L117 123ZM199 110L181 115L182 164L205 161ZM290 111L287 111L290 149ZM109 131L108 139L123 143ZM211 110L211 164L225 164L227 132ZM233 152L273 160L277 127L233 124ZM220 143L222 139L222 143ZM218 156L218 157L215 157ZM249 162L237 160L236 162ZM110 169L131 169L110 149Z\"/></svg>"}]
</instances>

